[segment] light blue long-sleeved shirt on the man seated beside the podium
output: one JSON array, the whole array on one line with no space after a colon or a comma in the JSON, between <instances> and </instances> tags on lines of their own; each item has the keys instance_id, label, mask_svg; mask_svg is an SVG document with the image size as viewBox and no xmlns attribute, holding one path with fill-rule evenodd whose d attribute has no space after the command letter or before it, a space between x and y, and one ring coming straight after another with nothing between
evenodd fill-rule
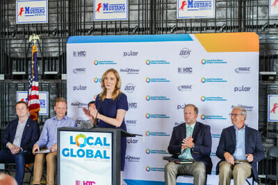
<instances>
[{"instance_id":1,"label":"light blue long-sleeved shirt on the man seated beside the podium","mask_svg":"<svg viewBox=\"0 0 278 185\"><path fill-rule=\"evenodd\" d=\"M40 148L50 148L57 143L57 128L58 127L76 127L76 123L68 116L63 117L58 121L57 117L49 118L44 123L40 139L37 144Z\"/></svg>"}]
</instances>

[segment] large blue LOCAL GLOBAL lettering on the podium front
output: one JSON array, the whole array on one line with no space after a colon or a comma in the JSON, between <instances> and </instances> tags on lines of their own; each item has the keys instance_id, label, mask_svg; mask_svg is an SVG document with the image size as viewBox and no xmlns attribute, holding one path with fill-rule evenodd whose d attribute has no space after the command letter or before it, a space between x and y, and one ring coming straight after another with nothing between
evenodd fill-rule
<instances>
[{"instance_id":1,"label":"large blue LOCAL GLOBAL lettering on the podium front","mask_svg":"<svg viewBox=\"0 0 278 185\"><path fill-rule=\"evenodd\" d=\"M77 146L79 149L72 147ZM85 146L89 146L85 149ZM63 157L79 157L79 158L90 158L90 159L111 159L107 154L110 153L109 150L110 143L107 142L105 136L85 136L84 134L78 134L75 137L70 136L70 146L69 148L63 148L61 151ZM84 149L83 149L84 148ZM90 149L89 149L90 148ZM101 148L101 149L96 149ZM103 149L108 148L108 149ZM94 150L92 150L94 149Z\"/></svg>"}]
</instances>

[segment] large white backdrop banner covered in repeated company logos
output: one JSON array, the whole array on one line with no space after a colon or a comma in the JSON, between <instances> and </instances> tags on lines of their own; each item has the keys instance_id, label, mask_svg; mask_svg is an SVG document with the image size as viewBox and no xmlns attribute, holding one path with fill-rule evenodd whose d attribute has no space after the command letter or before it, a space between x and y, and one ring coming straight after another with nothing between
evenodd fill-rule
<instances>
[{"instance_id":1,"label":"large white backdrop banner covered in repeated company logos","mask_svg":"<svg viewBox=\"0 0 278 185\"><path fill-rule=\"evenodd\" d=\"M67 115L88 121L82 108L101 92L101 76L110 68L122 79L129 101L126 184L164 184L163 156L172 129L184 122L183 108L199 107L197 121L211 126L212 175L220 134L231 125L229 113L240 105L246 124L258 126L259 37L255 33L192 35L74 36L67 41ZM193 184L193 178L178 178Z\"/></svg>"}]
</instances>

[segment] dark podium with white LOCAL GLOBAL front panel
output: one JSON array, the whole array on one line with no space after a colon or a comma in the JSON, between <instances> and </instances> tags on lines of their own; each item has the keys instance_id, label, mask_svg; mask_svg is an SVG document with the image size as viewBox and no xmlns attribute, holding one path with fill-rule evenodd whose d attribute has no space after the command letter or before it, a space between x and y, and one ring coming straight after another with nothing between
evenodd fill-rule
<instances>
[{"instance_id":1,"label":"dark podium with white LOCAL GLOBAL front panel","mask_svg":"<svg viewBox=\"0 0 278 185\"><path fill-rule=\"evenodd\" d=\"M58 128L58 184L120 185L121 129Z\"/></svg>"}]
</instances>

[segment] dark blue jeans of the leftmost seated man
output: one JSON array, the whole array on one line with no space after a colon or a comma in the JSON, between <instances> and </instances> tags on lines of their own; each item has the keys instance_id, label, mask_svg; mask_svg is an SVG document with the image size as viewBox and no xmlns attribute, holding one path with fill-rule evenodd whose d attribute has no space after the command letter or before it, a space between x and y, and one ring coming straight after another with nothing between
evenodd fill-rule
<instances>
[{"instance_id":1,"label":"dark blue jeans of the leftmost seated man","mask_svg":"<svg viewBox=\"0 0 278 185\"><path fill-rule=\"evenodd\" d=\"M35 156L29 152L24 151L20 152L16 155L13 155L10 150L0 150L0 163L15 163L15 179L17 180L17 184L21 185L24 172L25 172L25 164L33 163Z\"/></svg>"}]
</instances>

